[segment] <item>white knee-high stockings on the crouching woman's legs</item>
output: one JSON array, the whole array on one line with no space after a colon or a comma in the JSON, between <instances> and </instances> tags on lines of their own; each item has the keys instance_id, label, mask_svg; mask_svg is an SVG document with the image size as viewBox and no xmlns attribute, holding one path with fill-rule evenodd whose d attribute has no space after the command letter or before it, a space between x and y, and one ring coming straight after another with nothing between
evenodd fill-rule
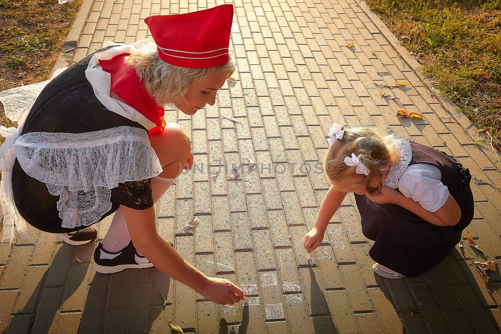
<instances>
[{"instance_id":1,"label":"white knee-high stockings on the crouching woman's legs","mask_svg":"<svg viewBox=\"0 0 501 334\"><path fill-rule=\"evenodd\" d=\"M169 189L175 179L167 179L160 176L151 178L151 192L153 195L153 202L156 203L160 197ZM103 239L103 249L108 252L116 253L125 248L130 242L129 229L125 222L124 213L122 208L115 211L115 216L111 221L110 228ZM143 255L136 250L138 255Z\"/></svg>"}]
</instances>

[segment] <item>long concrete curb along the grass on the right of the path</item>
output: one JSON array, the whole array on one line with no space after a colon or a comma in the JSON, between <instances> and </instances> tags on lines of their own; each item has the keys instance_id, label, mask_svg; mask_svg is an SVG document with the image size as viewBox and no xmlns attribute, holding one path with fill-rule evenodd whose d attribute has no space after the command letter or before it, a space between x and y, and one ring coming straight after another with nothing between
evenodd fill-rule
<instances>
[{"instance_id":1,"label":"long concrete curb along the grass on the right of the path","mask_svg":"<svg viewBox=\"0 0 501 334\"><path fill-rule=\"evenodd\" d=\"M402 60L407 63L407 66L417 75L424 86L428 89L429 93L440 103L440 105L459 123L464 132L472 138L474 142L475 137L478 136L477 128L473 123L458 110L456 104L449 98L443 97L437 94L433 89L433 82L426 78L426 75L419 70L421 65L414 59L410 52L400 44L400 41L395 37L395 35L390 31L386 24L377 16L377 14L369 8L369 5L362 0L358 3L360 8L365 12L365 14L372 20L372 22L381 31L383 36L386 38L388 43L397 51L401 56Z\"/></svg>"}]
</instances>

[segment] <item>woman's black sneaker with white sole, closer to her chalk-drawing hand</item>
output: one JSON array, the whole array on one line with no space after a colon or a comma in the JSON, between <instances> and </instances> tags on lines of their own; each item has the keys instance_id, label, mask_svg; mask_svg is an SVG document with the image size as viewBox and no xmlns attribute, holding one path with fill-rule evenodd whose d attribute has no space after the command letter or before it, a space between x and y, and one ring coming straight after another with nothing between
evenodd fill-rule
<instances>
[{"instance_id":1,"label":"woman's black sneaker with white sole, closer to her chalk-drawing hand","mask_svg":"<svg viewBox=\"0 0 501 334\"><path fill-rule=\"evenodd\" d=\"M136 252L132 240L121 251L111 253L103 249L103 244L98 243L94 251L94 268L102 274L111 274L127 268L149 268L151 263L146 257Z\"/></svg>"}]
</instances>

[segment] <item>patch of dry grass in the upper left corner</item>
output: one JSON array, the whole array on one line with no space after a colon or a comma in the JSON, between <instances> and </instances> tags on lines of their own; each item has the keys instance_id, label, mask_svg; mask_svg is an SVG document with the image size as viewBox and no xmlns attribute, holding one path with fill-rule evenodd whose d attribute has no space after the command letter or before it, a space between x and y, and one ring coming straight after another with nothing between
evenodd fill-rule
<instances>
[{"instance_id":1,"label":"patch of dry grass in the upper left corner","mask_svg":"<svg viewBox=\"0 0 501 334\"><path fill-rule=\"evenodd\" d=\"M49 78L80 4L0 0L0 91ZM3 111L0 104L0 123L9 126Z\"/></svg>"}]
</instances>

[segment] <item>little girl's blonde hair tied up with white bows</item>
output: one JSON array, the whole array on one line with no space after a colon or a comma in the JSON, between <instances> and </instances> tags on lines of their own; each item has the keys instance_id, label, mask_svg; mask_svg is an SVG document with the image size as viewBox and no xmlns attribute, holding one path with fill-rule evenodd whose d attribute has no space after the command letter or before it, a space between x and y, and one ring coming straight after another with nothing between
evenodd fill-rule
<instances>
[{"instance_id":1,"label":"little girl's blonde hair tied up with white bows","mask_svg":"<svg viewBox=\"0 0 501 334\"><path fill-rule=\"evenodd\" d=\"M362 154L360 161L369 170L369 175L357 174L356 166L346 165L344 159L351 158L352 153L357 157ZM343 139L337 139L331 145L324 168L331 181L356 177L361 180L360 184L365 183L368 194L375 195L381 193L384 184L383 172L389 170L398 160L393 135L382 136L369 127L361 127L345 130ZM371 185L374 176L378 181L377 187Z\"/></svg>"}]
</instances>

